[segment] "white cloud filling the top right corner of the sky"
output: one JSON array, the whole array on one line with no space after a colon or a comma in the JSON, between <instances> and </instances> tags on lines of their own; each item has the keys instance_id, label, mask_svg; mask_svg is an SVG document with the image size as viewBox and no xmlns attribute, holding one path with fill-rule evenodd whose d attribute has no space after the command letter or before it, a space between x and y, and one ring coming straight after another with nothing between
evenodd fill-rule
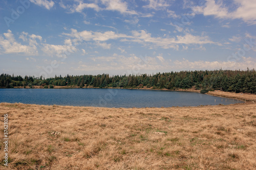
<instances>
[{"instance_id":1,"label":"white cloud filling the top right corner of the sky","mask_svg":"<svg viewBox=\"0 0 256 170\"><path fill-rule=\"evenodd\" d=\"M216 0L207 0L205 6L193 6L191 8L195 13L204 14L205 16L212 15L221 19L242 19L249 25L256 24L255 0L233 0L233 3L238 8L232 11L223 5L222 1Z\"/></svg>"}]
</instances>

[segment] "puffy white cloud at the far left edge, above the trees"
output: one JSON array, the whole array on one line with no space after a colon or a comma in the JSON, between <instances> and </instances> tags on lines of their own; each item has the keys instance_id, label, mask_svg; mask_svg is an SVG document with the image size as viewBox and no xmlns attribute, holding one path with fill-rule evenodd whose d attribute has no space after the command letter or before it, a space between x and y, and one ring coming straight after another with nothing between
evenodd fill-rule
<instances>
[{"instance_id":1,"label":"puffy white cloud at the far left edge, above the trees","mask_svg":"<svg viewBox=\"0 0 256 170\"><path fill-rule=\"evenodd\" d=\"M26 55L38 55L36 38L41 40L41 36L32 34L29 35L29 38L27 38L28 33L23 32L20 39L29 41L29 45L22 45L21 43L17 42L11 30L8 30L7 33L4 33L4 36L5 38L0 36L0 46L2 46L2 49L4 50L3 53L24 53Z\"/></svg>"}]
</instances>

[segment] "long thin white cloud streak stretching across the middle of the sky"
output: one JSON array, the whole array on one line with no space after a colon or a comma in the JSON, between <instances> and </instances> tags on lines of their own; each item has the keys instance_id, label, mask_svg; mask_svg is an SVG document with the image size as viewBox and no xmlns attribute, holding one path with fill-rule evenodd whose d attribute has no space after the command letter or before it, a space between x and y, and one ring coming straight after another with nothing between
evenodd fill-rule
<instances>
[{"instance_id":1,"label":"long thin white cloud streak stretching across the middle of the sky","mask_svg":"<svg viewBox=\"0 0 256 170\"><path fill-rule=\"evenodd\" d=\"M194 36L189 33L186 33L184 36L176 37L152 37L150 33L147 33L145 30L132 31L132 36L126 34L118 34L113 31L106 32L93 32L93 31L81 31L77 32L75 29L71 29L71 33L63 33L63 35L76 38L83 41L107 41L113 39L120 39L122 42L137 42L143 45L152 45L151 48L159 46L162 48L174 48L178 50L179 44L217 44L209 40L208 36ZM108 44L102 44L101 46L107 47ZM110 46L110 45L109 45Z\"/></svg>"}]
</instances>

